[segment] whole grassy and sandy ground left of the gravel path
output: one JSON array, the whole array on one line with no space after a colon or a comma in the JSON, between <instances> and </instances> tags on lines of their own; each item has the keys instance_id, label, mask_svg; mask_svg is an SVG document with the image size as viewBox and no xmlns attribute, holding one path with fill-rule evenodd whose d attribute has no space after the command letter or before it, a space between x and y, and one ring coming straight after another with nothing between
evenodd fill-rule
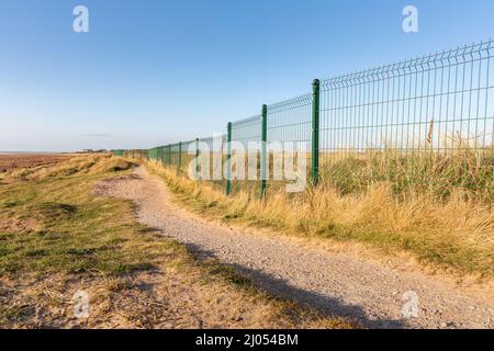
<instances>
[{"instance_id":1,"label":"whole grassy and sandy ground left of the gravel path","mask_svg":"<svg viewBox=\"0 0 494 351\"><path fill-rule=\"evenodd\" d=\"M197 261L136 223L133 204L93 194L130 172L109 157L12 170L0 185L2 328L349 328L277 299L215 261ZM90 296L74 316L74 293Z\"/></svg>"}]
</instances>

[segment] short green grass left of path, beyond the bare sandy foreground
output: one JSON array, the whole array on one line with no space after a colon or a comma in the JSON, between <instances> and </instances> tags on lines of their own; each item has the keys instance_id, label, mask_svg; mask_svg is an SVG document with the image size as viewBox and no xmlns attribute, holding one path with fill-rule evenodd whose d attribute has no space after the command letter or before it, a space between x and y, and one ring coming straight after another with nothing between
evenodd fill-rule
<instances>
[{"instance_id":1,"label":"short green grass left of path, beyond the bare sandy foreground","mask_svg":"<svg viewBox=\"0 0 494 351\"><path fill-rule=\"evenodd\" d=\"M3 218L37 224L33 231L0 233L0 274L119 275L153 269L158 256L172 249L170 244L144 235L130 202L93 194L94 183L128 169L124 163L119 160L94 174L64 171L0 188Z\"/></svg>"}]
</instances>

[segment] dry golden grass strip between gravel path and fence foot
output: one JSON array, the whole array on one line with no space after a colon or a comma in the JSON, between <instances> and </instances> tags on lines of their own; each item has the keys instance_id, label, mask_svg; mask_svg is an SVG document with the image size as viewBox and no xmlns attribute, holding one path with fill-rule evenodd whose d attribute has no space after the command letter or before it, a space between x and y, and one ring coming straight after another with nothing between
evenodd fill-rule
<instances>
[{"instance_id":1,"label":"dry golden grass strip between gravel path and fence foot","mask_svg":"<svg viewBox=\"0 0 494 351\"><path fill-rule=\"evenodd\" d=\"M427 264L458 273L494 276L494 213L490 204L451 192L439 201L434 194L396 196L386 182L369 191L343 194L330 184L302 194L239 191L225 196L207 183L177 177L154 162L181 201L224 222L267 227L285 233L369 244L385 253L409 252Z\"/></svg>"}]
</instances>

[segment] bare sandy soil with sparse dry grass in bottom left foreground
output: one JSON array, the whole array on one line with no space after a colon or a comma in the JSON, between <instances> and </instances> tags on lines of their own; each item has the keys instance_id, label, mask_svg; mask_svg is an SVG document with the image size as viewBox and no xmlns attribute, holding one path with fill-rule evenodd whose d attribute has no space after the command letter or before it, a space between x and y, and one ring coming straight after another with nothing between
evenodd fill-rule
<instances>
[{"instance_id":1,"label":"bare sandy soil with sparse dry grass in bottom left foreground","mask_svg":"<svg viewBox=\"0 0 494 351\"><path fill-rule=\"evenodd\" d=\"M76 318L74 294L89 297L89 318ZM0 279L1 318L10 329L263 329L292 328L268 302L221 280L203 283L199 269L179 268L124 278L70 279L50 274ZM322 328L315 322L307 328Z\"/></svg>"}]
</instances>

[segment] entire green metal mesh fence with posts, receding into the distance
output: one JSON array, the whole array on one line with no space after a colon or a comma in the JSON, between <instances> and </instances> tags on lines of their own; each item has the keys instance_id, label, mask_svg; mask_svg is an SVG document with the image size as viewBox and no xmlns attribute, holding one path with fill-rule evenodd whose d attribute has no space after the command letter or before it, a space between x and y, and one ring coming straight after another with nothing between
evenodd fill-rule
<instances>
[{"instance_id":1,"label":"entire green metal mesh fence with posts, receding into the distance","mask_svg":"<svg viewBox=\"0 0 494 351\"><path fill-rule=\"evenodd\" d=\"M352 192L381 181L396 191L452 184L494 199L492 43L314 80L312 93L262 105L259 114L228 123L216 149L213 138L198 138L114 155L158 160L184 173L192 159L202 159L201 145L207 145L210 163L198 161L195 172L209 166L213 174L220 167L224 177L203 181L228 194L244 189L263 195L283 183L273 179L273 170L280 167L277 152L287 150L272 144L294 143L306 150L296 157L305 159L314 185L324 181ZM467 154L471 158L462 158ZM213 165L214 155L220 166ZM239 181L247 159L254 167Z\"/></svg>"}]
</instances>

